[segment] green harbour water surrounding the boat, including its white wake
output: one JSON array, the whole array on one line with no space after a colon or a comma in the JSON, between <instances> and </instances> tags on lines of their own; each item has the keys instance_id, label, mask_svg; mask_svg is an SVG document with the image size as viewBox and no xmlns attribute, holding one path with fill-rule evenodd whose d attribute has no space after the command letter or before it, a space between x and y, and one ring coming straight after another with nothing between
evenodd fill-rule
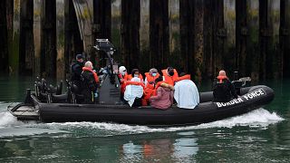
<instances>
[{"instance_id":1,"label":"green harbour water surrounding the boat, including its white wake","mask_svg":"<svg viewBox=\"0 0 290 163\"><path fill-rule=\"evenodd\" d=\"M0 162L290 161L286 80L267 83L275 90L275 101L264 109L179 128L18 121L5 108L24 99L25 88L33 87L31 81L0 78Z\"/></svg>"}]
</instances>

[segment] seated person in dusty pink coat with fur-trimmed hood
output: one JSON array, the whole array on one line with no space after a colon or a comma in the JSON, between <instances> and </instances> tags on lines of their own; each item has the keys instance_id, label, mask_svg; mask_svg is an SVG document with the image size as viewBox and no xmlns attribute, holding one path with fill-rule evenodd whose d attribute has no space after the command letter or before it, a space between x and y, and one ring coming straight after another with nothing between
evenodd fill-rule
<instances>
[{"instance_id":1,"label":"seated person in dusty pink coat with fur-trimmed hood","mask_svg":"<svg viewBox=\"0 0 290 163\"><path fill-rule=\"evenodd\" d=\"M163 82L162 76L157 78L155 82L156 95L150 97L150 105L154 108L166 110L173 103L174 87Z\"/></svg>"}]
</instances>

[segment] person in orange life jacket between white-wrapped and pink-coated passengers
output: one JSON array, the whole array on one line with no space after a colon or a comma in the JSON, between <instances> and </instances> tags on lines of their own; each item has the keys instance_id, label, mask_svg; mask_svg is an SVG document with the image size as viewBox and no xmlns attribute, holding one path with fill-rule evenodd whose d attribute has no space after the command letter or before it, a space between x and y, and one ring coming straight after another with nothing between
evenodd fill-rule
<instances>
[{"instance_id":1,"label":"person in orange life jacket between white-wrapped and pink-coated passengers","mask_svg":"<svg viewBox=\"0 0 290 163\"><path fill-rule=\"evenodd\" d=\"M142 99L143 106L147 106L149 104L149 99L154 94L155 80L160 77L160 73L157 69L152 68L149 72L145 73L145 76L145 90Z\"/></svg>"}]
</instances>

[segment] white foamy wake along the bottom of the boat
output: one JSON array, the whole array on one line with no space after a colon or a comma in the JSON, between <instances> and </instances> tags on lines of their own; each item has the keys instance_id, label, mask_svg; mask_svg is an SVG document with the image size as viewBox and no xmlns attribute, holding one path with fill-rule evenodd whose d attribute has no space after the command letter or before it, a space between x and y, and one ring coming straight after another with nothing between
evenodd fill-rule
<instances>
[{"instance_id":1,"label":"white foamy wake along the bottom of the boat","mask_svg":"<svg viewBox=\"0 0 290 163\"><path fill-rule=\"evenodd\" d=\"M251 128L266 128L270 124L275 124L284 120L275 112L271 113L265 109L253 110L247 114L232 117L226 120L218 120L210 123L203 123L197 126L187 127L169 127L169 128L151 128L147 126L131 126L115 123L100 122L65 122L65 123L36 123L35 121L22 122L16 120L9 112L0 112L0 137L1 130L4 128L30 128L30 129L46 129L70 133L72 136L78 137L109 137L114 135L128 135L151 132L170 132L189 129L210 129L210 128L233 128L236 126L249 126ZM43 131L41 132L43 133ZM31 134L35 134L32 132ZM67 137L64 134L63 137Z\"/></svg>"}]
</instances>

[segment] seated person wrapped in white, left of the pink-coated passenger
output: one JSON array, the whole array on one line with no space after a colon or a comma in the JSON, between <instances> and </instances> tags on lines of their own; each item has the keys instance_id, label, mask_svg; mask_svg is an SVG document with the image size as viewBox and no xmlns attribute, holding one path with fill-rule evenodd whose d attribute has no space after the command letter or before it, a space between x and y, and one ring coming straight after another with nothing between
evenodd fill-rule
<instances>
[{"instance_id":1,"label":"seated person wrapped in white, left of the pink-coated passenger","mask_svg":"<svg viewBox=\"0 0 290 163\"><path fill-rule=\"evenodd\" d=\"M126 82L126 90L124 92L124 100L132 107L141 106L141 97L143 96L144 84L140 78L134 77L131 81Z\"/></svg>"}]
</instances>

